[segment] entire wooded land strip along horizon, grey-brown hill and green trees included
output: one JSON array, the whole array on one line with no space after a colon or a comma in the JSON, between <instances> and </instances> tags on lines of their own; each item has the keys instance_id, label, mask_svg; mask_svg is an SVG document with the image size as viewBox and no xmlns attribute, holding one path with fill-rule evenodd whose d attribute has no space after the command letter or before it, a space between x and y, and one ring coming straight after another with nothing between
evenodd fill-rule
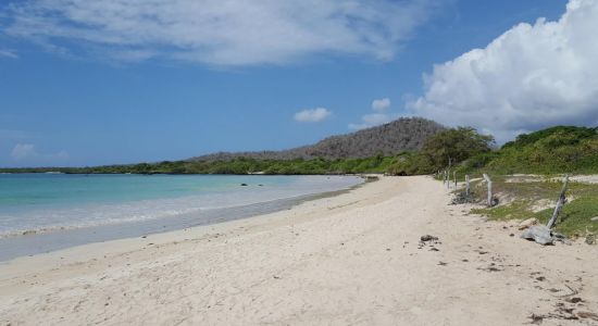
<instances>
[{"instance_id":1,"label":"entire wooded land strip along horizon, grey-brown hill and green trees included","mask_svg":"<svg viewBox=\"0 0 598 326\"><path fill-rule=\"evenodd\" d=\"M396 131L402 127L407 130ZM412 134L415 136L406 136L410 133L415 133ZM395 151L386 146L393 139L401 142ZM372 153L373 150L377 152ZM341 152L346 154L341 155ZM314 156L316 153L321 155ZM284 159L286 156L291 159ZM421 175L449 166L459 178L465 174L482 173L598 173L598 128L551 127L520 135L497 149L493 136L482 135L470 127L445 128L426 120L403 118L379 127L331 137L312 147L281 152L217 153L182 161L90 167L0 168L0 172Z\"/></svg>"}]
</instances>

